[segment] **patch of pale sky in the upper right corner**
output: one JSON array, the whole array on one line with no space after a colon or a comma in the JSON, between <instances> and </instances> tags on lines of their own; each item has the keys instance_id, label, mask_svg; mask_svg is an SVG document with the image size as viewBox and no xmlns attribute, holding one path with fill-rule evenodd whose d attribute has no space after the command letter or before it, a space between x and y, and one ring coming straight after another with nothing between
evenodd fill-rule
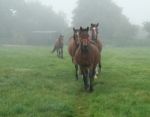
<instances>
[{"instance_id":1,"label":"patch of pale sky in the upper right corner","mask_svg":"<svg viewBox=\"0 0 150 117\"><path fill-rule=\"evenodd\" d=\"M133 24L150 21L150 0L113 0Z\"/></svg>"}]
</instances>

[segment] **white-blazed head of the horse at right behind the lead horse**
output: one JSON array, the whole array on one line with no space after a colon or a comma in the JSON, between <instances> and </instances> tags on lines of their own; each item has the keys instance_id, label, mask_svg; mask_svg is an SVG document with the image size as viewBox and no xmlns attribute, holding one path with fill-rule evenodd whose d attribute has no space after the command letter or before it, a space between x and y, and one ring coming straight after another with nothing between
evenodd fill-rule
<instances>
[{"instance_id":1,"label":"white-blazed head of the horse at right behind the lead horse","mask_svg":"<svg viewBox=\"0 0 150 117\"><path fill-rule=\"evenodd\" d=\"M99 26L99 23L97 23L97 24L92 24L91 23L90 31L91 31L91 36L92 36L92 40L93 41L97 40L97 37L98 37L98 26Z\"/></svg>"}]
</instances>

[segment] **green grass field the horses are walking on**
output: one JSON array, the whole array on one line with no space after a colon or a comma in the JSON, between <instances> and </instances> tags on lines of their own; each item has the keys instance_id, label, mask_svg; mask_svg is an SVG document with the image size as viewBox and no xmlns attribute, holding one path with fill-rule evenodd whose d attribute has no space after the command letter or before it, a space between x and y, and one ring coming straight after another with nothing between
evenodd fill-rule
<instances>
[{"instance_id":1,"label":"green grass field the horses are walking on","mask_svg":"<svg viewBox=\"0 0 150 117\"><path fill-rule=\"evenodd\" d=\"M150 117L150 48L104 48L94 92L49 47L0 47L0 117Z\"/></svg>"}]
</instances>

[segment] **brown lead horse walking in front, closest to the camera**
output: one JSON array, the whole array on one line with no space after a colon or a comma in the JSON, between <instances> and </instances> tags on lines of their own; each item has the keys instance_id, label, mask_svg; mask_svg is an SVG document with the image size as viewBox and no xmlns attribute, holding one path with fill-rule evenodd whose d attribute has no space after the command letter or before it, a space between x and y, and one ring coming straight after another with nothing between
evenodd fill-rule
<instances>
[{"instance_id":1,"label":"brown lead horse walking in front, closest to the camera","mask_svg":"<svg viewBox=\"0 0 150 117\"><path fill-rule=\"evenodd\" d=\"M99 63L99 50L91 43L89 27L80 27L80 44L75 53L75 63L80 66L85 90L93 91L96 65Z\"/></svg>"}]
</instances>

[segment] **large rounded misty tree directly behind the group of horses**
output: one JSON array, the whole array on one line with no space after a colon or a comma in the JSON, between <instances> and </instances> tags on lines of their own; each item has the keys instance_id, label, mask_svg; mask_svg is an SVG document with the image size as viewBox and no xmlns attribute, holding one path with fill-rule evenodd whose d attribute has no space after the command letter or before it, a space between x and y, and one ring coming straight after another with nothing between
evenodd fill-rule
<instances>
[{"instance_id":1,"label":"large rounded misty tree directly behind the group of horses","mask_svg":"<svg viewBox=\"0 0 150 117\"><path fill-rule=\"evenodd\" d=\"M79 0L73 12L75 26L100 23L100 34L105 42L125 42L136 35L136 26L131 25L122 14L122 9L111 0Z\"/></svg>"}]
</instances>

